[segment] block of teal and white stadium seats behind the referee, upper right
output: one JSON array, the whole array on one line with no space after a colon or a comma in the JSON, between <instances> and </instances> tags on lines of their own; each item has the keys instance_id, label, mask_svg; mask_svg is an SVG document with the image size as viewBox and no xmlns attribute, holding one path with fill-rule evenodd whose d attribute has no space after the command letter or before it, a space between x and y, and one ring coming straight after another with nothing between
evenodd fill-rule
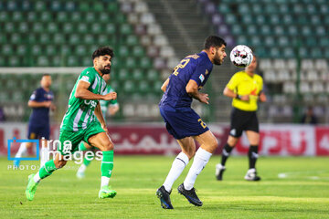
<instances>
[{"instance_id":1,"label":"block of teal and white stadium seats behind the referee, upper right","mask_svg":"<svg viewBox=\"0 0 329 219\"><path fill-rule=\"evenodd\" d=\"M260 57L260 72L271 97L271 105L264 104L260 109L260 118L290 122L303 108L313 105L322 121L328 120L325 116L329 113L328 1L198 2L218 35L229 39L231 45L252 47Z\"/></svg>"}]
</instances>

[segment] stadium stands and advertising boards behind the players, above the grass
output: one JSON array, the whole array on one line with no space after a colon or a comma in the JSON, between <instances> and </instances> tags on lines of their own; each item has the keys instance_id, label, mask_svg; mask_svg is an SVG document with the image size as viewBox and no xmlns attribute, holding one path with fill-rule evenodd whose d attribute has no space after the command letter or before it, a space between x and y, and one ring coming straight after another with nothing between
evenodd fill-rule
<instances>
[{"instance_id":1,"label":"stadium stands and advertising boards behind the players, above the grass","mask_svg":"<svg viewBox=\"0 0 329 219\"><path fill-rule=\"evenodd\" d=\"M58 138L69 93L99 46L115 51L111 86L120 112L108 118L118 153L173 154L157 104L172 68L202 49L206 36L252 47L269 101L260 104L260 154L329 154L329 2L326 0L3 0L0 2L0 153L14 136L25 139L27 100L42 73L51 73ZM222 145L230 101L222 90L239 70L227 57L207 83L210 105L194 109ZM319 125L301 125L313 106ZM242 139L238 154L246 153ZM12 152L17 145L12 147ZM218 149L220 152L220 149Z\"/></svg>"}]
</instances>

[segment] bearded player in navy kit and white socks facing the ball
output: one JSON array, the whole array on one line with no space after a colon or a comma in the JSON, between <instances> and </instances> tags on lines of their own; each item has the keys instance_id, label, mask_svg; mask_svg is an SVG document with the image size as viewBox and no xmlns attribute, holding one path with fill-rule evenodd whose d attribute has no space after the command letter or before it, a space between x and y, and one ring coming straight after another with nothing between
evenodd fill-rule
<instances>
[{"instance_id":1,"label":"bearded player in navy kit and white socks facing the ball","mask_svg":"<svg viewBox=\"0 0 329 219\"><path fill-rule=\"evenodd\" d=\"M223 63L227 56L225 48L224 39L219 36L208 36L204 49L181 60L161 88L164 95L159 104L160 113L164 118L166 130L174 136L182 149L176 156L164 184L156 191L164 209L174 208L170 201L172 186L193 157L194 162L184 183L178 186L178 193L183 194L190 203L202 205L196 195L194 184L197 175L216 151L218 141L207 128L207 124L191 109L191 103L193 99L197 99L208 104L208 95L199 92L199 89L206 84L213 65ZM197 151L195 140L200 144Z\"/></svg>"}]
</instances>

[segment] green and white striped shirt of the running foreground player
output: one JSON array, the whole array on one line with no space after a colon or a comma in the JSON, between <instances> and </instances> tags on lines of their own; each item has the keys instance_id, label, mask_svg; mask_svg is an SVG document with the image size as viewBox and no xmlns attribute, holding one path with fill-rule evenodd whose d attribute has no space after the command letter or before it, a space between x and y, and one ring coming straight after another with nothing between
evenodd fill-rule
<instances>
[{"instance_id":1,"label":"green and white striped shirt of the running foreground player","mask_svg":"<svg viewBox=\"0 0 329 219\"><path fill-rule=\"evenodd\" d=\"M93 120L95 108L99 102L98 99L77 99L75 92L80 80L90 83L88 90L94 94L101 94L106 82L95 68L84 69L69 95L69 109L60 125L60 130L79 131L85 130Z\"/></svg>"}]
</instances>

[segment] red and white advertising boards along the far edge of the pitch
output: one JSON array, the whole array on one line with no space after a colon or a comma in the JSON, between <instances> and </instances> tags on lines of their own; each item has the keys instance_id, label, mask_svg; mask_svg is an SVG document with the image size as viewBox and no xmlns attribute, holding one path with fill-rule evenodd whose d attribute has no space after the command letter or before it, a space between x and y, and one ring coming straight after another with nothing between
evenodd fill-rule
<instances>
[{"instance_id":1,"label":"red and white advertising boards along the far edge of the pitch","mask_svg":"<svg viewBox=\"0 0 329 219\"><path fill-rule=\"evenodd\" d=\"M228 125L209 125L218 139L217 154L228 139ZM116 154L176 154L178 143L168 134L164 124L121 124L109 128ZM57 140L58 125L51 127L51 140ZM7 153L7 140L25 139L27 124L0 124L0 154ZM11 145L11 154L18 150L18 144ZM233 153L244 155L249 142L244 134ZM32 151L30 151L32 152ZM329 155L329 127L303 125L260 125L260 155Z\"/></svg>"}]
</instances>

